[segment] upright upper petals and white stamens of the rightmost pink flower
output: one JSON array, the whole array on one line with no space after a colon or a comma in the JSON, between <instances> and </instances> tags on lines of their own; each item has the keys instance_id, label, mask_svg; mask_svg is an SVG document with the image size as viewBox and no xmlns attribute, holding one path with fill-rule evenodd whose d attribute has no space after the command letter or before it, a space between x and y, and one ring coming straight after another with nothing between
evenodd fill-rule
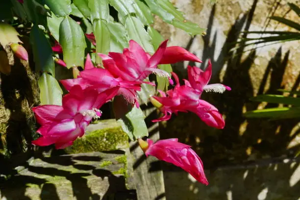
<instances>
[{"instance_id":1,"label":"upright upper petals and white stamens of the rightmost pink flower","mask_svg":"<svg viewBox=\"0 0 300 200\"><path fill-rule=\"evenodd\" d=\"M212 72L212 65L210 60L208 60L208 66L205 72L203 72L200 68L196 66L195 67L188 66L189 80L184 80L185 85L192 87L196 90L199 90L200 92L211 91L211 92L223 93L225 92L225 90L231 90L230 87L220 83L208 84L211 77L211 72Z\"/></svg>"}]
</instances>

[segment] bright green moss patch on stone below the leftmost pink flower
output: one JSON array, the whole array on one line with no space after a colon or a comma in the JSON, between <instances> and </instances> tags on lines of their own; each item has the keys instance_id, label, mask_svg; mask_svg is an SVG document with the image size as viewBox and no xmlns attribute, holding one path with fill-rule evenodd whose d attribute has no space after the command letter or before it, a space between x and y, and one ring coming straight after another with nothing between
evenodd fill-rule
<instances>
[{"instance_id":1,"label":"bright green moss patch on stone below the leftmost pink flower","mask_svg":"<svg viewBox=\"0 0 300 200\"><path fill-rule=\"evenodd\" d=\"M104 150L117 150L128 147L128 136L121 126L105 128L87 133L75 140L74 144L66 149L68 153L83 153Z\"/></svg>"}]
</instances>

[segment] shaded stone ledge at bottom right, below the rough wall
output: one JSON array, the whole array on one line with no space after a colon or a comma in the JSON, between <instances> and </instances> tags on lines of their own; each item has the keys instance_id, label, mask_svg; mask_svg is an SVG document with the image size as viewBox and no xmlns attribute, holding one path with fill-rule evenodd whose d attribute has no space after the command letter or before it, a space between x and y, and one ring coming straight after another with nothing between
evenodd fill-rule
<instances>
[{"instance_id":1,"label":"shaded stone ledge at bottom right, below the rough wall","mask_svg":"<svg viewBox=\"0 0 300 200\"><path fill-rule=\"evenodd\" d=\"M164 171L168 200L299 200L300 160L206 170L204 186L182 170Z\"/></svg>"}]
</instances>

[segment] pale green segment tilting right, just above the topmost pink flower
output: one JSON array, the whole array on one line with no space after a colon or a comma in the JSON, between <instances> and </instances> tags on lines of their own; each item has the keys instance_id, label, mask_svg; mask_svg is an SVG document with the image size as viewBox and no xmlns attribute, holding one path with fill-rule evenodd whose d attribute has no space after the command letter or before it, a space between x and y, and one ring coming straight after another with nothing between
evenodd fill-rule
<instances>
[{"instance_id":1,"label":"pale green segment tilting right, just above the topmost pink flower","mask_svg":"<svg viewBox=\"0 0 300 200\"><path fill-rule=\"evenodd\" d=\"M151 44L151 38L145 30L143 23L139 19L136 17L127 16L125 28L130 40L134 40L139 43L147 52L154 52Z\"/></svg>"}]
</instances>

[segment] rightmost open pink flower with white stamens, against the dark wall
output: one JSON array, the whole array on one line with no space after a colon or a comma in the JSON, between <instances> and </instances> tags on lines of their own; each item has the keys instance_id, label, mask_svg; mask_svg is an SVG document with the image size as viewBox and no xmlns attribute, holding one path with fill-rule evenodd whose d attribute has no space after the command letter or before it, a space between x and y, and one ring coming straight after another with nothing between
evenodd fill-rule
<instances>
[{"instance_id":1,"label":"rightmost open pink flower with white stamens, against the dark wall","mask_svg":"<svg viewBox=\"0 0 300 200\"><path fill-rule=\"evenodd\" d=\"M211 72L210 60L205 72L196 66L188 66L188 80L184 79L185 85L182 86L179 84L178 76L172 73L176 82L175 88L168 90L166 93L159 91L161 97L154 96L151 99L153 104L158 104L157 107L164 113L163 117L153 120L153 122L169 120L172 113L190 111L196 113L207 125L224 128L225 121L218 109L207 101L200 99L203 91L223 93L225 90L231 90L230 87L223 84L208 84Z\"/></svg>"}]
</instances>

